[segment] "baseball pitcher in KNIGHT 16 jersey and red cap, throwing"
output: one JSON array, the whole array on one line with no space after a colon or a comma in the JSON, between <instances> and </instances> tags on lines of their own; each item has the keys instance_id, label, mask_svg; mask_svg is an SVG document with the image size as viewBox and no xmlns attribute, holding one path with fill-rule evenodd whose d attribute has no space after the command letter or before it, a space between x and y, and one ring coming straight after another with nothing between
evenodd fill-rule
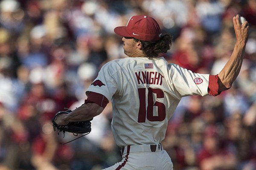
<instances>
[{"instance_id":1,"label":"baseball pitcher in KNIGHT 16 jersey and red cap, throwing","mask_svg":"<svg viewBox=\"0 0 256 170\"><path fill-rule=\"evenodd\" d=\"M105 64L88 88L79 108L58 116L58 125L86 121L113 105L111 127L122 160L105 170L172 170L171 158L161 142L175 108L183 96L216 96L229 89L239 74L248 39L249 24L233 17L236 44L218 75L197 74L169 64L159 54L172 45L154 18L132 16L114 32L122 36L128 56Z\"/></svg>"}]
</instances>

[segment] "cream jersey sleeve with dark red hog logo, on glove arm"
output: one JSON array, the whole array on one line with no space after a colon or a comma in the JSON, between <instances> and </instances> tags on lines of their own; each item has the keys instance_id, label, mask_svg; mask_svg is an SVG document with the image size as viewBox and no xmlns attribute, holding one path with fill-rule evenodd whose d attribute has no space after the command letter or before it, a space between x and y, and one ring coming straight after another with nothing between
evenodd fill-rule
<instances>
[{"instance_id":1,"label":"cream jersey sleeve with dark red hog logo, on glove arm","mask_svg":"<svg viewBox=\"0 0 256 170\"><path fill-rule=\"evenodd\" d=\"M95 92L97 94L102 94L105 96L108 101L111 101L113 94L116 93L118 85L114 79L116 71L114 67L111 67L110 64L105 64L99 71L96 79L91 83L89 88L86 91L88 96L89 92Z\"/></svg>"}]
</instances>

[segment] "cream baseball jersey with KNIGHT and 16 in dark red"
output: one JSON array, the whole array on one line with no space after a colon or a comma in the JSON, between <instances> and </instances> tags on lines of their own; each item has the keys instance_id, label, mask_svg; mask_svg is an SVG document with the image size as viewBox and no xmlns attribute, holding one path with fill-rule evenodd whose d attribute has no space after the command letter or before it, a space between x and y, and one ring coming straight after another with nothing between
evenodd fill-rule
<instances>
[{"instance_id":1,"label":"cream baseball jersey with KNIGHT and 16 in dark red","mask_svg":"<svg viewBox=\"0 0 256 170\"><path fill-rule=\"evenodd\" d=\"M120 147L160 143L181 97L207 95L209 74L195 74L163 57L112 60L87 91L112 102L111 128Z\"/></svg>"}]
</instances>

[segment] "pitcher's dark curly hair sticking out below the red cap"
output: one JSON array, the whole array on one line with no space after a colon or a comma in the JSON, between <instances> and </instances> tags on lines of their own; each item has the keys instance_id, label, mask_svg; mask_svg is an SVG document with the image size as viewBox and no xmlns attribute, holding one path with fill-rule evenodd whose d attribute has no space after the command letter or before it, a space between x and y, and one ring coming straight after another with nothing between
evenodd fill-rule
<instances>
[{"instance_id":1,"label":"pitcher's dark curly hair sticking out below the red cap","mask_svg":"<svg viewBox=\"0 0 256 170\"><path fill-rule=\"evenodd\" d=\"M156 58L159 54L167 53L172 46L172 38L171 34L164 34L158 41L143 41L135 38L134 41L141 42L141 50L148 58Z\"/></svg>"}]
</instances>

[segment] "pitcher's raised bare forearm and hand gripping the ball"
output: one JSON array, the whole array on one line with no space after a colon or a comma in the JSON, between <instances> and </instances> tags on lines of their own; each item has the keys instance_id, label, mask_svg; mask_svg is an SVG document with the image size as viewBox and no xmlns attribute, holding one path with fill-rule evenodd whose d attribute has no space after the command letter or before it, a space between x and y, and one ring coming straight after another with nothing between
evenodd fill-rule
<instances>
[{"instance_id":1,"label":"pitcher's raised bare forearm and hand gripping the ball","mask_svg":"<svg viewBox=\"0 0 256 170\"><path fill-rule=\"evenodd\" d=\"M236 44L230 59L218 74L220 80L218 81L219 92L231 88L233 82L236 80L241 69L244 59L245 45L248 40L249 23L245 21L241 24L239 21L239 15L236 15L236 17L233 17L233 24L236 33Z\"/></svg>"}]
</instances>

